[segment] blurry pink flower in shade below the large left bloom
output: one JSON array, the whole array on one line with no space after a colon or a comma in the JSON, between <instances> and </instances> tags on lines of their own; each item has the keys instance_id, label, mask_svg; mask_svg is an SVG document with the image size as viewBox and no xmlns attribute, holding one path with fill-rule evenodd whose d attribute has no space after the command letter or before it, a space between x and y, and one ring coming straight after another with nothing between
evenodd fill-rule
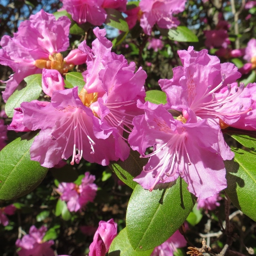
<instances>
[{"instance_id":1,"label":"blurry pink flower in shade below the large left bloom","mask_svg":"<svg viewBox=\"0 0 256 256\"><path fill-rule=\"evenodd\" d=\"M67 202L70 212L81 211L88 202L93 202L95 199L98 187L94 181L95 176L86 172L80 185L62 182L56 191L61 194L61 200Z\"/></svg>"}]
</instances>

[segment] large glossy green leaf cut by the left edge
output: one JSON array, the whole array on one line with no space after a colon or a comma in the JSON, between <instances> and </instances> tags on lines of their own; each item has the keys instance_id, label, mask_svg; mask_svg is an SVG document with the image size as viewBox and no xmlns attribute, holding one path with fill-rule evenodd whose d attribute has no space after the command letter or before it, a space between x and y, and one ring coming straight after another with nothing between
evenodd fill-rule
<instances>
[{"instance_id":1,"label":"large glossy green leaf cut by the left edge","mask_svg":"<svg viewBox=\"0 0 256 256\"><path fill-rule=\"evenodd\" d=\"M13 200L36 188L48 169L30 160L36 132L15 139L0 151L0 199Z\"/></svg>"}]
</instances>

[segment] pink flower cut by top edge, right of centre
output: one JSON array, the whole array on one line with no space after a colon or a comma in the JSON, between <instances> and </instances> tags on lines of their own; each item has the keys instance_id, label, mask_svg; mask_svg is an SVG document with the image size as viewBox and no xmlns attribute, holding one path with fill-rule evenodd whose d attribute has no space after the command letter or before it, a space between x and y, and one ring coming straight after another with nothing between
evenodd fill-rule
<instances>
[{"instance_id":1,"label":"pink flower cut by top edge, right of centre","mask_svg":"<svg viewBox=\"0 0 256 256\"><path fill-rule=\"evenodd\" d=\"M150 36L152 28L157 24L160 28L175 28L180 21L173 17L185 9L186 0L180 1L161 1L161 0L142 0L139 7L143 12L141 17L141 27Z\"/></svg>"}]
</instances>

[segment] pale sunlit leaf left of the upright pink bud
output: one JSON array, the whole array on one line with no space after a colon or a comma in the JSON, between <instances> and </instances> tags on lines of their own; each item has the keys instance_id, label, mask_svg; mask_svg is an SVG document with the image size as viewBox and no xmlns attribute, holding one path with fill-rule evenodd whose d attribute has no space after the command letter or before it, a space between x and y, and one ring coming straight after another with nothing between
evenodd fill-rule
<instances>
[{"instance_id":1,"label":"pale sunlit leaf left of the upright pink bud","mask_svg":"<svg viewBox=\"0 0 256 256\"><path fill-rule=\"evenodd\" d=\"M14 108L20 107L24 101L30 102L37 100L42 92L42 74L36 74L26 77L26 87L21 90L16 90L5 104L5 113L9 118L14 115Z\"/></svg>"}]
</instances>

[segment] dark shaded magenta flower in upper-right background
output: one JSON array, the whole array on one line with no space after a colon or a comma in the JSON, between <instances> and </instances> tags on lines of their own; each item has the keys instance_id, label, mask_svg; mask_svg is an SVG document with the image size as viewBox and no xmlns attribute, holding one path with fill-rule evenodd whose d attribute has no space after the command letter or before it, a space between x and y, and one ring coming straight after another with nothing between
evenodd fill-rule
<instances>
[{"instance_id":1,"label":"dark shaded magenta flower in upper-right background","mask_svg":"<svg viewBox=\"0 0 256 256\"><path fill-rule=\"evenodd\" d=\"M230 44L228 32L225 29L205 30L204 34L206 37L205 46L208 48L227 48Z\"/></svg>"}]
</instances>

